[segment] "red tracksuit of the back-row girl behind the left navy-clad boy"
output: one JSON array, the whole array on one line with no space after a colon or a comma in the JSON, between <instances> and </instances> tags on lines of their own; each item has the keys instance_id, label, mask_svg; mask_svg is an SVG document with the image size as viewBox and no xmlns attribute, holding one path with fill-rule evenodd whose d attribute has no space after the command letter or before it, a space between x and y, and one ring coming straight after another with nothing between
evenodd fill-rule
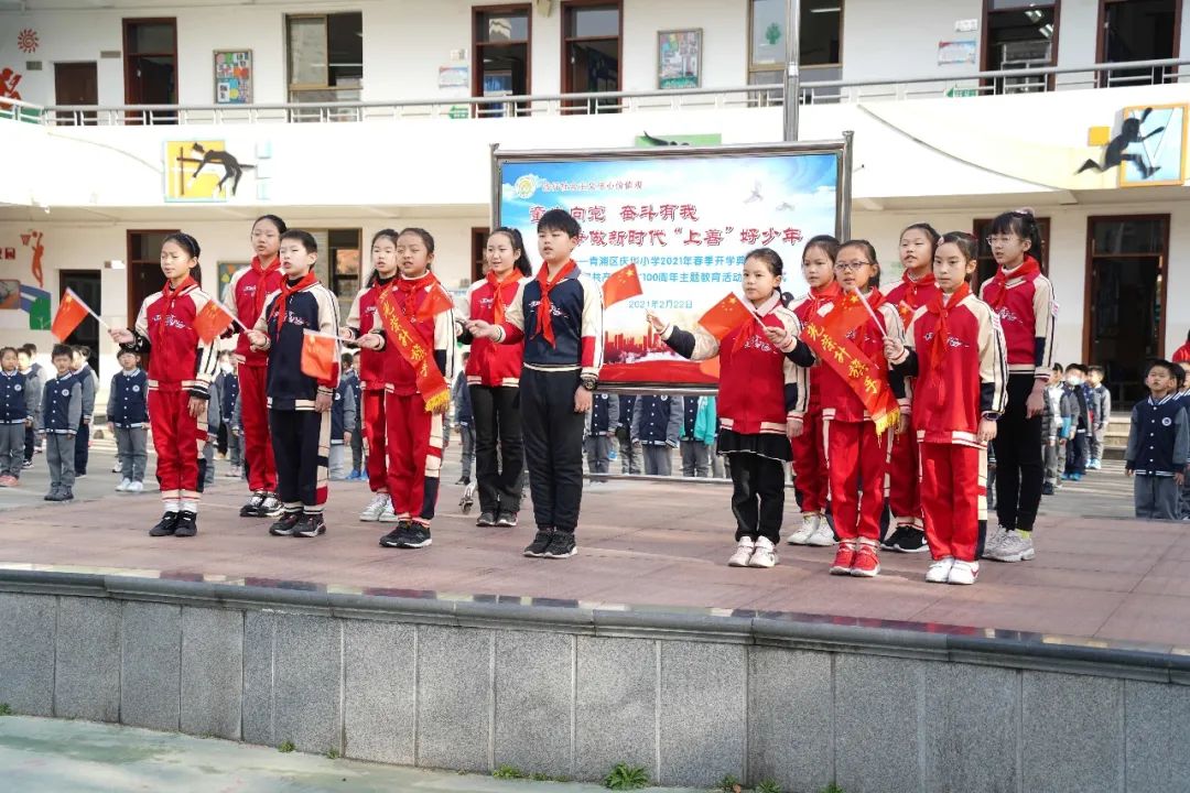
<instances>
[{"instance_id":1,"label":"red tracksuit of the back-row girl behind the left navy-clad boy","mask_svg":"<svg viewBox=\"0 0 1190 793\"><path fill-rule=\"evenodd\" d=\"M232 273L224 291L223 304L244 327L255 327L264 311L265 298L281 288L281 259L269 266L252 257L251 264ZM246 333L240 333L234 353L238 377L244 461L249 470L248 486L252 492L277 490L277 468L269 434L268 366L269 357L252 350Z\"/></svg>"}]
</instances>

